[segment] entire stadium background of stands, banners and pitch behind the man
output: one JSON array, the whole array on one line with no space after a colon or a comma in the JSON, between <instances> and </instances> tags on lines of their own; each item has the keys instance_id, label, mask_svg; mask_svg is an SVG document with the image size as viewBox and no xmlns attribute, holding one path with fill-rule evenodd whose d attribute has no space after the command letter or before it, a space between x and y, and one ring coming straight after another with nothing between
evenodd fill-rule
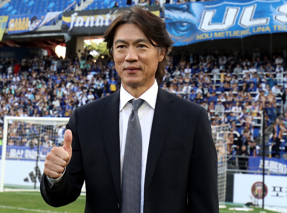
<instances>
[{"instance_id":1,"label":"entire stadium background of stands, banners and pitch behind the man","mask_svg":"<svg viewBox=\"0 0 287 213\"><path fill-rule=\"evenodd\" d=\"M175 42L161 87L208 112L220 212L287 212L287 0L0 0L0 212L84 211L85 185L44 202L44 161L75 108L119 90L102 37L135 5Z\"/></svg>"}]
</instances>

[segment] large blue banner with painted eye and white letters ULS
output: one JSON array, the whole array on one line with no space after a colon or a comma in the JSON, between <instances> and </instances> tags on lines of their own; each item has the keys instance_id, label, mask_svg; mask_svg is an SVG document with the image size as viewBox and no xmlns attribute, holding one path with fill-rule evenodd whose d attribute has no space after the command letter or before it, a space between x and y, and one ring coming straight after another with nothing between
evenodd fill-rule
<instances>
[{"instance_id":1,"label":"large blue banner with painted eye and white letters ULS","mask_svg":"<svg viewBox=\"0 0 287 213\"><path fill-rule=\"evenodd\" d=\"M287 31L287 0L218 0L165 6L175 46Z\"/></svg>"}]
</instances>

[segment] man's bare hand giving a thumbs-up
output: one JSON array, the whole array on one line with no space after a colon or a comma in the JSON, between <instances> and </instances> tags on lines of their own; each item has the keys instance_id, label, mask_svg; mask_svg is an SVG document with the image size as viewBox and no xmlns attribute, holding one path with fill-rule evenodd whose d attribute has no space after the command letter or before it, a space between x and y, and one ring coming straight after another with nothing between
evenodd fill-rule
<instances>
[{"instance_id":1,"label":"man's bare hand giving a thumbs-up","mask_svg":"<svg viewBox=\"0 0 287 213\"><path fill-rule=\"evenodd\" d=\"M64 146L53 147L47 154L44 174L49 178L57 179L62 175L65 167L69 164L72 156L72 132L66 130L64 135Z\"/></svg>"}]
</instances>

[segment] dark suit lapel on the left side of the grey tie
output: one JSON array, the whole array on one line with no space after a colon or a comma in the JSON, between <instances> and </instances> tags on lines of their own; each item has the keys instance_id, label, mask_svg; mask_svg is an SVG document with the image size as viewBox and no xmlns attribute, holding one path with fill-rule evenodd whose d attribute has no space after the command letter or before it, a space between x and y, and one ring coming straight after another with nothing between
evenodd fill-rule
<instances>
[{"instance_id":1,"label":"dark suit lapel on the left side of the grey tie","mask_svg":"<svg viewBox=\"0 0 287 213\"><path fill-rule=\"evenodd\" d=\"M120 91L109 96L105 101L107 105L100 108L101 126L104 135L106 150L110 162L110 168L114 187L121 202L121 158L120 158L120 129L119 109Z\"/></svg>"}]
</instances>

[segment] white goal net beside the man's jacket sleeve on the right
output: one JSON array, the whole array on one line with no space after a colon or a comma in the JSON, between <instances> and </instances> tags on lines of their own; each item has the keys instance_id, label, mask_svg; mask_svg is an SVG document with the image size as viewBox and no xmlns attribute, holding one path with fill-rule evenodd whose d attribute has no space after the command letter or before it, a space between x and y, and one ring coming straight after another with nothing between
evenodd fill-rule
<instances>
[{"instance_id":1,"label":"white goal net beside the man's jacket sleeve on the right","mask_svg":"<svg viewBox=\"0 0 287 213\"><path fill-rule=\"evenodd\" d=\"M218 198L219 207L226 207L227 141L229 125L212 126L212 136L218 156Z\"/></svg>"}]
</instances>

